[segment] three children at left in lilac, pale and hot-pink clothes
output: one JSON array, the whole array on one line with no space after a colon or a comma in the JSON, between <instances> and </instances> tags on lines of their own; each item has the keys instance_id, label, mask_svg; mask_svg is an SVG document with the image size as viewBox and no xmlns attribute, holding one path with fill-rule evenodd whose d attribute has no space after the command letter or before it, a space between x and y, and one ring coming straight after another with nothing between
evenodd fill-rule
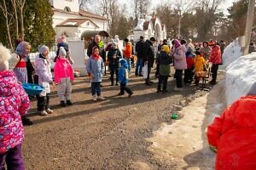
<instances>
[{"instance_id":1,"label":"three children at left in lilac, pale and hot-pink clothes","mask_svg":"<svg viewBox=\"0 0 256 170\"><path fill-rule=\"evenodd\" d=\"M58 45L58 56L55 58L54 80L50 69L49 48L45 45L38 48L38 55L32 65L28 56L31 45L29 42L20 42L15 51L15 54L17 54L16 63L10 63L11 65L15 65L13 71L20 84L30 82L44 87L44 90L36 96L38 100L38 111L42 116L47 116L54 112L49 108L50 83L53 83L53 81L55 81L55 84L59 88L58 96L60 105L72 105L71 82L73 82L74 77L71 62L73 59L67 57L65 39L62 39L59 43L61 45ZM28 81L29 79L31 80Z\"/></svg>"}]
</instances>

